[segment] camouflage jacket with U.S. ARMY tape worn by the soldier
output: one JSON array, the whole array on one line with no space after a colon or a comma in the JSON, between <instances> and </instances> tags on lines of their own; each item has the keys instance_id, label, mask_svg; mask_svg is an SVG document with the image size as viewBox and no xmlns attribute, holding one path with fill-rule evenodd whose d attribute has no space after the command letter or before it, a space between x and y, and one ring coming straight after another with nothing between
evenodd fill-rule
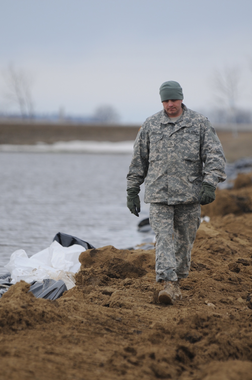
<instances>
[{"instance_id":1,"label":"camouflage jacket with U.S. ARMY tape worn by the soldier","mask_svg":"<svg viewBox=\"0 0 252 380\"><path fill-rule=\"evenodd\" d=\"M182 104L172 123L165 110L148 117L139 130L127 175L128 188L145 180L145 203L194 203L202 182L217 186L226 179L225 157L206 117Z\"/></svg>"}]
</instances>

